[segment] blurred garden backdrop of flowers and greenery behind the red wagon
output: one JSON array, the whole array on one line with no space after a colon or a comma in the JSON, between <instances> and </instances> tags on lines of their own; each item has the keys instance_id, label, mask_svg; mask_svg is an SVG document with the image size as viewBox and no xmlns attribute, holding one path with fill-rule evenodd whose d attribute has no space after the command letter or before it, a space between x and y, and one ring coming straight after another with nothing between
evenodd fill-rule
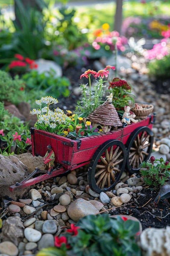
<instances>
[{"instance_id":1,"label":"blurred garden backdrop of flowers and greenery behind the red wagon","mask_svg":"<svg viewBox=\"0 0 170 256\"><path fill-rule=\"evenodd\" d=\"M0 0L1 153L28 150L36 99L51 95L74 111L88 69L115 66L112 78L126 79L139 103L166 114L169 38L168 0ZM22 141L11 148L15 132Z\"/></svg>"}]
</instances>

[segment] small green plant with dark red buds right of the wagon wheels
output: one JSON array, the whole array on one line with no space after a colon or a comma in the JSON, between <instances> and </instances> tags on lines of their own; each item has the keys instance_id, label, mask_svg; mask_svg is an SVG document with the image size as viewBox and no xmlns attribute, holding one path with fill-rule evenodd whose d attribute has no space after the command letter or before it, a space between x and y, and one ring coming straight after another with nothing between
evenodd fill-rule
<instances>
[{"instance_id":1,"label":"small green plant with dark red buds right of the wagon wheels","mask_svg":"<svg viewBox=\"0 0 170 256\"><path fill-rule=\"evenodd\" d=\"M151 156L150 160L142 162L140 167L140 173L144 177L146 185L159 188L170 180L170 163L165 162L163 158L155 159L154 156Z\"/></svg>"}]
</instances>

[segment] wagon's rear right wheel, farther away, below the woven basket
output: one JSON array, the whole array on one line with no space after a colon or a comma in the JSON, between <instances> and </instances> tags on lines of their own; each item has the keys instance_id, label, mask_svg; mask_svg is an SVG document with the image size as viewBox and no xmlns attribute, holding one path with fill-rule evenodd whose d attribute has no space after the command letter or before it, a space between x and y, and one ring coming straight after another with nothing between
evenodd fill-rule
<instances>
[{"instance_id":1,"label":"wagon's rear right wheel, farther away, below the woven basket","mask_svg":"<svg viewBox=\"0 0 170 256\"><path fill-rule=\"evenodd\" d=\"M153 132L148 127L140 127L129 137L126 166L131 173L140 170L140 163L147 161L152 152Z\"/></svg>"}]
</instances>

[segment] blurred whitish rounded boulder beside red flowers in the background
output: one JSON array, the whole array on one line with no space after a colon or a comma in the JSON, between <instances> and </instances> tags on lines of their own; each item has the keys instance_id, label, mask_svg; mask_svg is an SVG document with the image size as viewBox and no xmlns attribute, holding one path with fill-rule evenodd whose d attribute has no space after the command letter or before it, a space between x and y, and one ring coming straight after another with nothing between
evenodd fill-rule
<instances>
[{"instance_id":1,"label":"blurred whitish rounded boulder beside red flowers in the background","mask_svg":"<svg viewBox=\"0 0 170 256\"><path fill-rule=\"evenodd\" d=\"M44 59L38 59L35 61L36 64L38 64L38 67L36 68L36 71L38 71L39 74L46 72L46 75L48 75L48 71L53 69L55 72L55 77L61 77L62 76L62 69L61 67L54 61L44 60Z\"/></svg>"}]
</instances>

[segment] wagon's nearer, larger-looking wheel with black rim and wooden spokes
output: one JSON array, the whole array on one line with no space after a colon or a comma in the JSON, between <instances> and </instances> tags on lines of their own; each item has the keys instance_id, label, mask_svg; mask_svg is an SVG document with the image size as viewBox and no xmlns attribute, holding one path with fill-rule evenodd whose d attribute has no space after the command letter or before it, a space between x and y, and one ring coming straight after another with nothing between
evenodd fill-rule
<instances>
[{"instance_id":1,"label":"wagon's nearer, larger-looking wheel with black rim and wooden spokes","mask_svg":"<svg viewBox=\"0 0 170 256\"><path fill-rule=\"evenodd\" d=\"M126 148L118 140L108 140L96 150L89 165L88 183L97 193L111 190L121 177Z\"/></svg>"}]
</instances>

